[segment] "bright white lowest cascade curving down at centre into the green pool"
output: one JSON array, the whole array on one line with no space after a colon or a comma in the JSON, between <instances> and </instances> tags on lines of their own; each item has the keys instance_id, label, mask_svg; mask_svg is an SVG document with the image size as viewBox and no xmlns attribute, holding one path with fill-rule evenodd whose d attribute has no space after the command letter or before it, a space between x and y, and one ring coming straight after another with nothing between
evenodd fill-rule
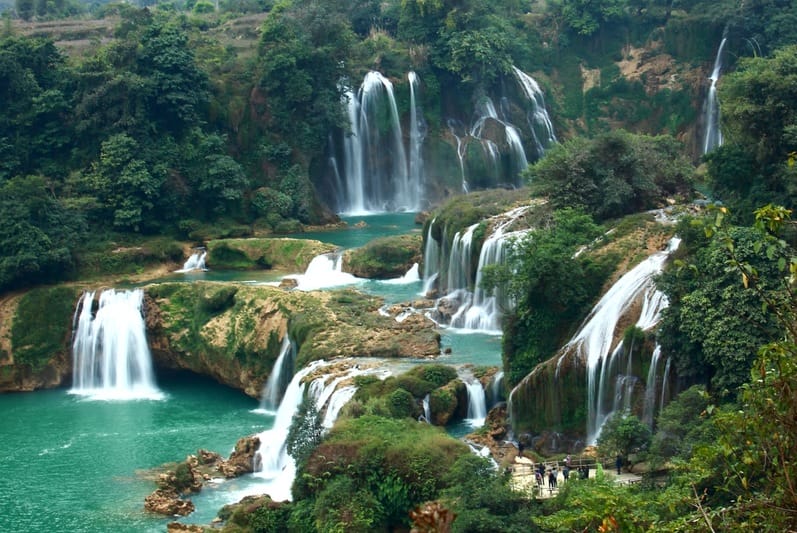
<instances>
[{"instance_id":1,"label":"bright white lowest cascade curving down at centre into the green pool","mask_svg":"<svg viewBox=\"0 0 797 533\"><path fill-rule=\"evenodd\" d=\"M305 395L323 414L322 426L329 429L343 406L357 391L353 378L362 374L387 377L383 369L354 360L313 361L293 376L280 402L271 429L258 435L260 448L255 452L255 476L262 485L255 493L268 494L274 501L290 500L296 476L296 462L288 453L288 432Z\"/></svg>"}]
</instances>

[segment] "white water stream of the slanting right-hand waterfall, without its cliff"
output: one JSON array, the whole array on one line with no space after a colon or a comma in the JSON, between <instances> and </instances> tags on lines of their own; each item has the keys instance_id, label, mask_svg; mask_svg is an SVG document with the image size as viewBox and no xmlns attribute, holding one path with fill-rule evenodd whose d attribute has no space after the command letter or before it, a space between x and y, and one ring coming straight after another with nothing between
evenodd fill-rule
<instances>
[{"instance_id":1,"label":"white water stream of the slanting right-hand waterfall, without its cliff","mask_svg":"<svg viewBox=\"0 0 797 533\"><path fill-rule=\"evenodd\" d=\"M622 353L622 344L615 350L611 345L620 317L640 296L647 300L637 327L650 328L667 305L666 298L657 294L653 277L661 272L670 253L677 249L680 239L673 238L667 250L657 252L627 272L600 299L590 312L584 325L566 348L572 348L587 365L587 442L594 444L607 412L605 399L610 381L617 377L613 371ZM612 395L613 396L613 395ZM612 403L614 405L614 402Z\"/></svg>"}]
</instances>

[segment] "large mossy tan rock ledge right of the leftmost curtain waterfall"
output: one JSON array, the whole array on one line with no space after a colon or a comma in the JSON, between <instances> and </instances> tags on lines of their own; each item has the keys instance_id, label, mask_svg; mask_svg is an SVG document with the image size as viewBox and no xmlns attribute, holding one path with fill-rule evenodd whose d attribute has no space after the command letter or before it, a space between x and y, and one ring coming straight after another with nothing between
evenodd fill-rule
<instances>
[{"instance_id":1,"label":"large mossy tan rock ledge right of the leftmost curtain waterfall","mask_svg":"<svg viewBox=\"0 0 797 533\"><path fill-rule=\"evenodd\" d=\"M284 291L222 283L145 288L156 363L211 376L258 397L286 334L296 365L343 356L431 357L439 334L424 317L384 317L382 300L355 290Z\"/></svg>"}]
</instances>

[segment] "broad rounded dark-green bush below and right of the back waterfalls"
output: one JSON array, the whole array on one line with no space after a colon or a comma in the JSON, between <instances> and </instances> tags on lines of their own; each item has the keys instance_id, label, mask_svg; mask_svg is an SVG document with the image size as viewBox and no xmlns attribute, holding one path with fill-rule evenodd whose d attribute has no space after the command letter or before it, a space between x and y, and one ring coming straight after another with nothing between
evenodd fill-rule
<instances>
[{"instance_id":1,"label":"broad rounded dark-green bush below and right of the back waterfalls","mask_svg":"<svg viewBox=\"0 0 797 533\"><path fill-rule=\"evenodd\" d=\"M687 192L693 168L672 137L617 130L559 144L527 172L534 191L554 207L579 208L601 221Z\"/></svg>"}]
</instances>

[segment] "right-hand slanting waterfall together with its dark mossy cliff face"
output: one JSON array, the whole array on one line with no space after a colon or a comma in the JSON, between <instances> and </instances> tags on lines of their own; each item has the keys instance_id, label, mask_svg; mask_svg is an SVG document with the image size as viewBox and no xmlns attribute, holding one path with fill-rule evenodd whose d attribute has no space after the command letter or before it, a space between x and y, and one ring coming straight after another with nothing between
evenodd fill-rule
<instances>
[{"instance_id":1,"label":"right-hand slanting waterfall together with its dark mossy cliff face","mask_svg":"<svg viewBox=\"0 0 797 533\"><path fill-rule=\"evenodd\" d=\"M658 350L650 353L639 340L634 341L637 345L624 346L624 331L619 328L627 324L649 331L656 326L668 302L656 290L654 278L679 242L673 238L666 250L623 275L559 353L515 386L509 401L514 425L535 431L560 429L577 416L580 407L574 406L586 403L587 443L594 444L603 423L615 411L639 410L639 416L652 421L652 410L660 411L669 399L668 365L661 361ZM653 395L656 400L647 400Z\"/></svg>"}]
</instances>

